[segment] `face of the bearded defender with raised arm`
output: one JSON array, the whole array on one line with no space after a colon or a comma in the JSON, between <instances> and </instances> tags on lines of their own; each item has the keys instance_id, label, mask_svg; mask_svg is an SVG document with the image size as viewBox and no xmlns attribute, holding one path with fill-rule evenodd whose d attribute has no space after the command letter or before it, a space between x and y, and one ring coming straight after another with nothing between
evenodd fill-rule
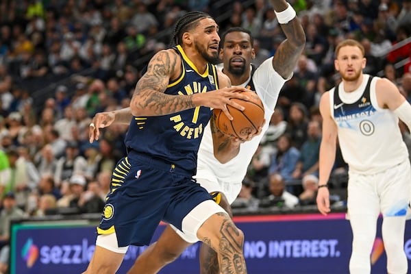
<instances>
[{"instance_id":1,"label":"face of the bearded defender with raised arm","mask_svg":"<svg viewBox=\"0 0 411 274\"><path fill-rule=\"evenodd\" d=\"M234 75L243 75L249 68L251 60L256 56L249 34L230 32L225 36L224 45L220 49L224 71Z\"/></svg>"}]
</instances>

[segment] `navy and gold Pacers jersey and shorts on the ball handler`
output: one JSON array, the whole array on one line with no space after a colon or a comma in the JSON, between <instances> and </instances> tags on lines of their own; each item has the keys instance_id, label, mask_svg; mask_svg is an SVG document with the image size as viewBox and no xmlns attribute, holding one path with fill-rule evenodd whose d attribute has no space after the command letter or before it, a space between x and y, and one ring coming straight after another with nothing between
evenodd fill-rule
<instances>
[{"instance_id":1,"label":"navy and gold Pacers jersey and shorts on the ball handler","mask_svg":"<svg viewBox=\"0 0 411 274\"><path fill-rule=\"evenodd\" d=\"M182 73L164 93L192 95L218 89L216 68L201 74L182 47ZM127 157L112 174L110 193L97 228L116 232L119 247L148 245L163 220L181 229L182 219L202 201L212 199L195 183L197 151L212 110L197 107L164 116L133 117L125 145Z\"/></svg>"}]
</instances>

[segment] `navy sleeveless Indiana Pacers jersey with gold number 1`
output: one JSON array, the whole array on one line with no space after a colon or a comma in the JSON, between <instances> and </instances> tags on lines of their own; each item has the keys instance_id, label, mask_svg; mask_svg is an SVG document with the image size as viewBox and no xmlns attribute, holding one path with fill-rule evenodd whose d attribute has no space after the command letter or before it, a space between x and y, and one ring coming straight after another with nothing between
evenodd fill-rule
<instances>
[{"instance_id":1,"label":"navy sleeveless Indiana Pacers jersey with gold number 1","mask_svg":"<svg viewBox=\"0 0 411 274\"><path fill-rule=\"evenodd\" d=\"M216 67L208 64L200 74L182 47L174 48L182 58L182 73L169 83L164 93L186 96L218 88ZM134 116L125 136L127 149L164 160L192 175L197 169L197 151L212 110L197 107L163 116Z\"/></svg>"}]
</instances>

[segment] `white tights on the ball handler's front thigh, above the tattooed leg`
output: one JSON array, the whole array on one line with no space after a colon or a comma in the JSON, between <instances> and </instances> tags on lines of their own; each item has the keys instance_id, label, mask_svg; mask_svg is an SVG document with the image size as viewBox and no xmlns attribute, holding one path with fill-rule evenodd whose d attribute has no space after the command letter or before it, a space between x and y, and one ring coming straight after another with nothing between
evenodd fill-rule
<instances>
[{"instance_id":1,"label":"white tights on the ball handler's front thigh, above the tattooed leg","mask_svg":"<svg viewBox=\"0 0 411 274\"><path fill-rule=\"evenodd\" d=\"M184 217L182 222L182 231L177 229L175 226L170 225L180 237L186 242L198 242L197 231L203 225L212 214L227 212L217 205L213 200L203 201L198 206L193 208L188 214Z\"/></svg>"}]
</instances>

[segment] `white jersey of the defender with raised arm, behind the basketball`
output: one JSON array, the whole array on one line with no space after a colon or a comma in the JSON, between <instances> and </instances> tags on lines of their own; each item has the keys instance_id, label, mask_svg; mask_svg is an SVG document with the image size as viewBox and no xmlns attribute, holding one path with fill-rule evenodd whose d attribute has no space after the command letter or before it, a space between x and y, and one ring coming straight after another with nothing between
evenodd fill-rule
<instances>
[{"instance_id":1,"label":"white jersey of the defender with raised arm, behind the basketball","mask_svg":"<svg viewBox=\"0 0 411 274\"><path fill-rule=\"evenodd\" d=\"M291 77L292 75L290 75ZM288 77L288 79L290 79ZM250 75L251 78L251 75ZM253 82L256 93L264 103L264 125L260 135L252 140L242 143L240 151L235 158L225 164L214 158L212 134L210 123L204 129L203 139L199 147L197 159L197 175L195 178L208 192L220 191L227 197L229 203L236 199L241 189L242 179L244 179L253 154L256 152L258 144L269 127L271 115L277 103L279 91L288 80L281 77L273 69L273 58L265 60L253 73L252 79L241 86L247 86Z\"/></svg>"}]
</instances>

